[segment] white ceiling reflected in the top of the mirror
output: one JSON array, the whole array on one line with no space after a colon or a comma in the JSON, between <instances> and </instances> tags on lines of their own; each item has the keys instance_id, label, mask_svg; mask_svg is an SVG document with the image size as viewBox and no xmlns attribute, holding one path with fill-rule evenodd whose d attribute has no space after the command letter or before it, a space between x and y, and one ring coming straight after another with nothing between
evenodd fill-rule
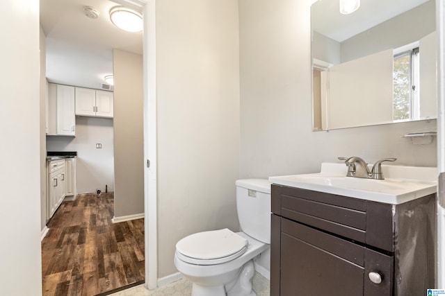
<instances>
[{"instance_id":1,"label":"white ceiling reflected in the top of the mirror","mask_svg":"<svg viewBox=\"0 0 445 296\"><path fill-rule=\"evenodd\" d=\"M318 0L312 5L312 29L343 42L425 2L428 0L361 0L355 12L341 15L339 0Z\"/></svg>"}]
</instances>

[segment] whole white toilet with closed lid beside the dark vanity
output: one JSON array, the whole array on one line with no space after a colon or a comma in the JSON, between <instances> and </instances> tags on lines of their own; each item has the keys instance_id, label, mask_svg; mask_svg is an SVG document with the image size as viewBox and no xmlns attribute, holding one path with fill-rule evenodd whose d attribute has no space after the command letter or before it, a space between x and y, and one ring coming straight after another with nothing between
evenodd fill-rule
<instances>
[{"instance_id":1,"label":"whole white toilet with closed lid beside the dark vanity","mask_svg":"<svg viewBox=\"0 0 445 296\"><path fill-rule=\"evenodd\" d=\"M175 266L192 282L192 296L256 296L253 259L270 246L270 182L235 184L241 232L198 232L176 244Z\"/></svg>"}]
</instances>

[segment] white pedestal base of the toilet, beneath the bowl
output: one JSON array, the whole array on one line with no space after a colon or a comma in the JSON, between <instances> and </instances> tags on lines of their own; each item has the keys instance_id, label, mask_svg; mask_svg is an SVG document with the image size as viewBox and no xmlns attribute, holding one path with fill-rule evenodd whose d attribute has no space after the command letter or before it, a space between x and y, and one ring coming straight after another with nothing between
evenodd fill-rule
<instances>
[{"instance_id":1,"label":"white pedestal base of the toilet, beneath the bowl","mask_svg":"<svg viewBox=\"0 0 445 296\"><path fill-rule=\"evenodd\" d=\"M193 283L192 296L257 296L252 290L254 272L254 264L250 260L243 265L235 279L225 286L200 286Z\"/></svg>"}]
</instances>

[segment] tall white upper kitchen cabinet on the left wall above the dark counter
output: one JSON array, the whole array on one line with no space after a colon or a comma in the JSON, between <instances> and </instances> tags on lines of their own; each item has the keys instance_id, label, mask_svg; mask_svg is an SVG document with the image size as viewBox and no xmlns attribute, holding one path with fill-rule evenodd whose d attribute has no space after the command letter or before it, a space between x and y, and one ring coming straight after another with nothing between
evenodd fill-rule
<instances>
[{"instance_id":1,"label":"tall white upper kitchen cabinet on the left wall above the dark counter","mask_svg":"<svg viewBox=\"0 0 445 296\"><path fill-rule=\"evenodd\" d=\"M47 134L75 136L74 87L48 83Z\"/></svg>"}]
</instances>

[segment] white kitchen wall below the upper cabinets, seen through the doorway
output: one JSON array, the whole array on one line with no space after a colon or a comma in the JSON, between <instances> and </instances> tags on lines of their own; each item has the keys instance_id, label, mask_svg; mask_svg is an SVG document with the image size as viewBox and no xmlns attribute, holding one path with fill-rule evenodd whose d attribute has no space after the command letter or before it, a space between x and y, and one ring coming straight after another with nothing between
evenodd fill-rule
<instances>
[{"instance_id":1,"label":"white kitchen wall below the upper cabinets, seen through the doorway","mask_svg":"<svg viewBox=\"0 0 445 296\"><path fill-rule=\"evenodd\" d=\"M47 150L77 151L78 193L114 191L113 119L76 116L76 137L47 136Z\"/></svg>"}]
</instances>

